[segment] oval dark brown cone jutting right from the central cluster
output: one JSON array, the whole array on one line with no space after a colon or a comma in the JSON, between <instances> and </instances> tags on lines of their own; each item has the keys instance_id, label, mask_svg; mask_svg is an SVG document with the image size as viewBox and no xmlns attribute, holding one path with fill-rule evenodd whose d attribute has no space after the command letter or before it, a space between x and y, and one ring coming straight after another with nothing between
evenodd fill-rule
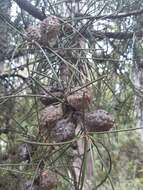
<instances>
[{"instance_id":1,"label":"oval dark brown cone jutting right from the central cluster","mask_svg":"<svg viewBox=\"0 0 143 190\"><path fill-rule=\"evenodd\" d=\"M85 125L89 132L109 131L114 126L114 120L107 111L99 109L85 114Z\"/></svg>"}]
</instances>

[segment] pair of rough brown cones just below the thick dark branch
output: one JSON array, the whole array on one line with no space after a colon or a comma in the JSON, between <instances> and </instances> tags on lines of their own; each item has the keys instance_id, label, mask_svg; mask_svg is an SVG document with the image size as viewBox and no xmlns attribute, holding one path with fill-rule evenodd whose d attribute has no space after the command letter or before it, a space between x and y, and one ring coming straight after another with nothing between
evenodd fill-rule
<instances>
[{"instance_id":1,"label":"pair of rough brown cones just below the thick dark branch","mask_svg":"<svg viewBox=\"0 0 143 190\"><path fill-rule=\"evenodd\" d=\"M27 28L26 36L29 45L37 42L42 46L54 46L60 32L60 21L56 16L48 16L41 21L40 26Z\"/></svg>"}]
</instances>

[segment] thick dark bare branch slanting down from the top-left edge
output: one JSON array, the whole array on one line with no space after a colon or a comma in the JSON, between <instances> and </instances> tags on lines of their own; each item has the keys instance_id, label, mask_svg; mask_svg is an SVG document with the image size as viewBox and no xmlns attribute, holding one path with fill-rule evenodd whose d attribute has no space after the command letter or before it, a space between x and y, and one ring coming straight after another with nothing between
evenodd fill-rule
<instances>
[{"instance_id":1,"label":"thick dark bare branch slanting down from the top-left edge","mask_svg":"<svg viewBox=\"0 0 143 190\"><path fill-rule=\"evenodd\" d=\"M37 9L34 5L32 5L27 0L14 0L14 1L17 3L17 5L21 9L25 10L26 12L28 12L34 18L37 18L39 20L43 20L43 19L46 18L46 16L42 13L42 11L40 11L39 9Z\"/></svg>"}]
</instances>

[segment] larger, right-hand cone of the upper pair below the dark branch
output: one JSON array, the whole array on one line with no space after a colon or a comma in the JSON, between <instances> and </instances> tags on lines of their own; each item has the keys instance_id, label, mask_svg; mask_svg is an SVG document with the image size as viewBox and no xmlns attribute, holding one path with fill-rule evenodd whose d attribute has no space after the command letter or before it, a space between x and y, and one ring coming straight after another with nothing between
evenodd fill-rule
<instances>
[{"instance_id":1,"label":"larger, right-hand cone of the upper pair below the dark branch","mask_svg":"<svg viewBox=\"0 0 143 190\"><path fill-rule=\"evenodd\" d=\"M60 32L60 22L56 16L48 16L41 22L41 36L43 45L53 46Z\"/></svg>"}]
</instances>

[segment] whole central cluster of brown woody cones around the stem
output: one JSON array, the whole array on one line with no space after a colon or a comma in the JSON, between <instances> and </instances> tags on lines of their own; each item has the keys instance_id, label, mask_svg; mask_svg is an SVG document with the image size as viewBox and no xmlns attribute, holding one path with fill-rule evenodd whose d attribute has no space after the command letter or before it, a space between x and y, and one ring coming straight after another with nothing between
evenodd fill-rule
<instances>
[{"instance_id":1,"label":"whole central cluster of brown woody cones around the stem","mask_svg":"<svg viewBox=\"0 0 143 190\"><path fill-rule=\"evenodd\" d=\"M45 101L41 101L46 106L46 108L41 111L40 117L40 130L43 136L48 136L58 143L73 139L75 137L76 124L78 121L82 121L83 109L83 123L87 131L103 132L110 130L114 126L112 116L105 110L98 109L92 112L85 111L85 109L89 107L92 99L90 89L85 87L80 89L76 87L69 93L65 92L65 94L66 95L64 95L63 92L62 100L64 100L69 110L67 110L67 107L64 110L62 103L48 105L48 94L47 96L45 95ZM66 115L66 113L68 114Z\"/></svg>"}]
</instances>

